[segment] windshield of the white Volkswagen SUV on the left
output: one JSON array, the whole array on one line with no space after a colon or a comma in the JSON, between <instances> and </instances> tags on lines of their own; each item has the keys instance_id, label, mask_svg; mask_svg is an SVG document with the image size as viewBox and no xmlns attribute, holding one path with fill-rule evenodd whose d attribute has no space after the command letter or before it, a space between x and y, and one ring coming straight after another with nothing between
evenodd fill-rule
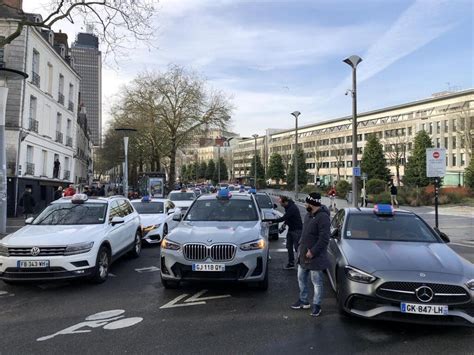
<instances>
[{"instance_id":1,"label":"windshield of the white Volkswagen SUV on the left","mask_svg":"<svg viewBox=\"0 0 474 355\"><path fill-rule=\"evenodd\" d=\"M37 225L102 224L105 221L105 203L55 203L35 218Z\"/></svg>"}]
</instances>

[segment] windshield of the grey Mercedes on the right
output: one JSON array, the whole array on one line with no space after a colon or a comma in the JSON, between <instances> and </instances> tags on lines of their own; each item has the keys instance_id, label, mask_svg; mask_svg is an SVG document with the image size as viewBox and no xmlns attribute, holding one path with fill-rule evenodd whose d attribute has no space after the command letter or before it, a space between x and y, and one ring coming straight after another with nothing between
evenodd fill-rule
<instances>
[{"instance_id":1,"label":"windshield of the grey Mercedes on the right","mask_svg":"<svg viewBox=\"0 0 474 355\"><path fill-rule=\"evenodd\" d=\"M439 242L417 216L397 214L392 217L375 214L349 215L345 238L404 242Z\"/></svg>"}]
</instances>

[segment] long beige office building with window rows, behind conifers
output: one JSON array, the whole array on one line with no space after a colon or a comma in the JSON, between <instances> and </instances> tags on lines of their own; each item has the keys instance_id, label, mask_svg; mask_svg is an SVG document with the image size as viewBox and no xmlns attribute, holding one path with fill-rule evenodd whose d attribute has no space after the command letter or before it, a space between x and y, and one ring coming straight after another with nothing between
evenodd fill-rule
<instances>
[{"instance_id":1,"label":"long beige office building with window rows, behind conifers","mask_svg":"<svg viewBox=\"0 0 474 355\"><path fill-rule=\"evenodd\" d=\"M346 116L299 128L298 145L305 153L309 182L314 182L316 176L325 184L352 178L351 122L352 117ZM359 162L367 138L375 134L384 146L395 181L395 160L400 161L399 173L403 178L415 135L425 130L435 147L446 148L444 183L463 184L463 172L473 149L474 90L445 92L424 100L359 113L357 126ZM267 156L278 153L284 162L291 162L294 134L294 129L272 134ZM249 151L247 155L250 154L253 153Z\"/></svg>"}]
</instances>

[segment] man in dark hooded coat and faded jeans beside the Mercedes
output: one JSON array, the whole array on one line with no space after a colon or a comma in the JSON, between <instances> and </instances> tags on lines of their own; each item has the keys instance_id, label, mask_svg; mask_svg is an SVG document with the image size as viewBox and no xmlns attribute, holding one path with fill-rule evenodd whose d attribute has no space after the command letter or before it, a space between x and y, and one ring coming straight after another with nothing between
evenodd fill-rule
<instances>
[{"instance_id":1,"label":"man in dark hooded coat and faded jeans beside the Mercedes","mask_svg":"<svg viewBox=\"0 0 474 355\"><path fill-rule=\"evenodd\" d=\"M306 197L306 210L303 232L299 246L298 286L300 295L298 301L291 305L293 309L309 309L308 278L314 288L311 315L321 314L323 297L323 270L329 267L327 247L329 244L330 212L321 204L321 194L313 192Z\"/></svg>"}]
</instances>

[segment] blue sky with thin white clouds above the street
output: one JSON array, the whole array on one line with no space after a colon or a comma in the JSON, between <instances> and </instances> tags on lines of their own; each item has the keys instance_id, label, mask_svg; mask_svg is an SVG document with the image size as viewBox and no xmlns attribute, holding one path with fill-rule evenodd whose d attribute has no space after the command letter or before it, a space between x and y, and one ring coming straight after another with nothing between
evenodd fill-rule
<instances>
[{"instance_id":1,"label":"blue sky with thin white clouds above the street","mask_svg":"<svg viewBox=\"0 0 474 355\"><path fill-rule=\"evenodd\" d=\"M29 3L29 5L27 5ZM33 6L25 0L25 8ZM154 48L137 45L104 69L104 102L146 70L177 63L233 97L232 128L243 136L351 113L350 68L359 111L474 87L471 0L162 0ZM64 28L64 26L63 26ZM72 38L74 28L66 31ZM77 29L76 29L77 30ZM133 65L130 65L133 63ZM107 118L104 107L104 117Z\"/></svg>"}]
</instances>

